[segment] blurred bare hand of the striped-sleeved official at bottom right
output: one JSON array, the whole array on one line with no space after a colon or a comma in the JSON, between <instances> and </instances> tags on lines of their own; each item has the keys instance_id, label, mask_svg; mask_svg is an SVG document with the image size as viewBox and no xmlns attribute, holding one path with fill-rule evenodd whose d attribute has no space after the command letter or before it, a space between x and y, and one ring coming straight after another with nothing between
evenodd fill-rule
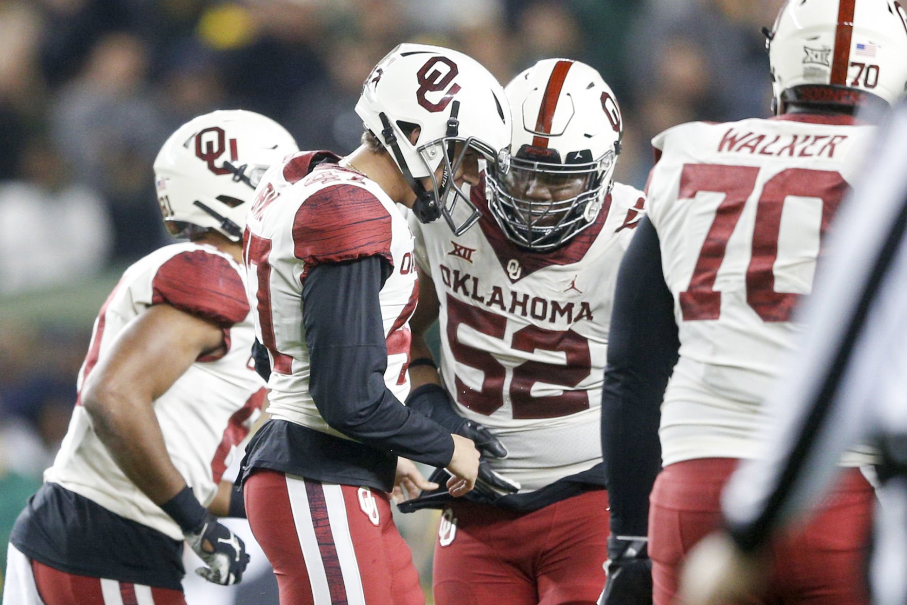
<instances>
[{"instance_id":1,"label":"blurred bare hand of the striped-sleeved official at bottom right","mask_svg":"<svg viewBox=\"0 0 907 605\"><path fill-rule=\"evenodd\" d=\"M689 551L680 571L679 603L728 605L750 602L767 571L759 555L741 551L727 532L706 536Z\"/></svg>"}]
</instances>

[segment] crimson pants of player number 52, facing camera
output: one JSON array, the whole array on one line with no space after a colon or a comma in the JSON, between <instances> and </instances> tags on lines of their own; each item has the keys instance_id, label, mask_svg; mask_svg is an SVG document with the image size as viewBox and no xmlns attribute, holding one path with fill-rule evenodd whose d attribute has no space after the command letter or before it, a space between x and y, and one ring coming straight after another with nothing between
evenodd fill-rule
<instances>
[{"instance_id":1,"label":"crimson pants of player number 52, facing camera","mask_svg":"<svg viewBox=\"0 0 907 605\"><path fill-rule=\"evenodd\" d=\"M608 493L519 514L455 503L434 546L436 605L594 604L605 584Z\"/></svg>"}]
</instances>

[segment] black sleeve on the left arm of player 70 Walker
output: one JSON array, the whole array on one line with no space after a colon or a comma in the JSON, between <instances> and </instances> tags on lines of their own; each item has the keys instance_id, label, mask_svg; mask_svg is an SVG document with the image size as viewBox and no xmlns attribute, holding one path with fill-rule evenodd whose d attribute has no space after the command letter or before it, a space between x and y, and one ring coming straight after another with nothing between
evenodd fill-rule
<instances>
[{"instance_id":1,"label":"black sleeve on the left arm of player 70 Walker","mask_svg":"<svg viewBox=\"0 0 907 605\"><path fill-rule=\"evenodd\" d=\"M658 233L644 218L620 263L602 387L611 535L646 535L649 492L661 470L660 406L679 346Z\"/></svg>"}]
</instances>

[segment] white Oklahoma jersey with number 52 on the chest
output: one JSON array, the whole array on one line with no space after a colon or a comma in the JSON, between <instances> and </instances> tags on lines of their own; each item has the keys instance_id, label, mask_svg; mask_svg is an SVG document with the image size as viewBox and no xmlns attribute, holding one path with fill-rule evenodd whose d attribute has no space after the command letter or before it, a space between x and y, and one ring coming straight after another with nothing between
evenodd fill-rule
<instances>
[{"instance_id":1,"label":"white Oklahoma jersey with number 52 on the chest","mask_svg":"<svg viewBox=\"0 0 907 605\"><path fill-rule=\"evenodd\" d=\"M528 492L601 462L614 283L643 195L615 183L595 223L548 253L518 249L473 202L483 216L462 236L414 216L410 229L441 304L445 388L507 447L494 470Z\"/></svg>"}]
</instances>

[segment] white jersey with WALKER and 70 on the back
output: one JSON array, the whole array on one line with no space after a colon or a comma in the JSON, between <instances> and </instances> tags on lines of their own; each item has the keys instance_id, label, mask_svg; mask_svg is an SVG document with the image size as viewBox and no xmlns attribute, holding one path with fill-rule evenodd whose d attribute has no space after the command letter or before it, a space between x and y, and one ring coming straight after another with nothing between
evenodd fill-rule
<instances>
[{"instance_id":1,"label":"white jersey with WALKER and 70 on the back","mask_svg":"<svg viewBox=\"0 0 907 605\"><path fill-rule=\"evenodd\" d=\"M798 327L820 239L873 127L787 114L691 122L653 139L648 214L680 356L661 413L664 464L751 458L762 399Z\"/></svg>"}]
</instances>

